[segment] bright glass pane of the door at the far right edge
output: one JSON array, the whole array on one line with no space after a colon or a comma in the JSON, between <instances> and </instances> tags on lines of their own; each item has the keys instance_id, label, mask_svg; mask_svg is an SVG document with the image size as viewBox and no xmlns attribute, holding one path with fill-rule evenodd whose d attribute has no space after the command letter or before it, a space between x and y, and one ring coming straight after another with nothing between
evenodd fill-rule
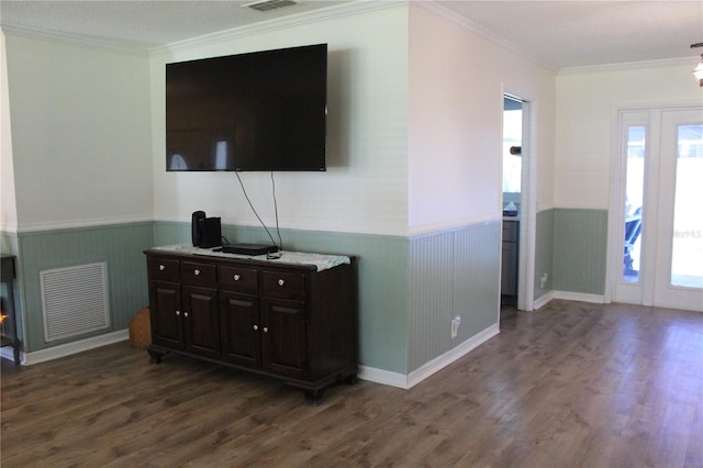
<instances>
[{"instance_id":1,"label":"bright glass pane of the door at the far right edge","mask_svg":"<svg viewBox=\"0 0 703 468\"><path fill-rule=\"evenodd\" d=\"M671 286L703 288L703 125L679 125Z\"/></svg>"}]
</instances>

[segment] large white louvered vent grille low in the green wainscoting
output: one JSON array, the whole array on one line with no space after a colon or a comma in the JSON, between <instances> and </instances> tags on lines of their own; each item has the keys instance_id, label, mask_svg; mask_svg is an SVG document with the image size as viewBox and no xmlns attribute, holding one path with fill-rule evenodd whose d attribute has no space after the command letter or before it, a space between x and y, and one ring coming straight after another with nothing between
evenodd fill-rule
<instances>
[{"instance_id":1,"label":"large white louvered vent grille low in the green wainscoting","mask_svg":"<svg viewBox=\"0 0 703 468\"><path fill-rule=\"evenodd\" d=\"M110 326L107 264L40 271L44 338L67 338Z\"/></svg>"}]
</instances>

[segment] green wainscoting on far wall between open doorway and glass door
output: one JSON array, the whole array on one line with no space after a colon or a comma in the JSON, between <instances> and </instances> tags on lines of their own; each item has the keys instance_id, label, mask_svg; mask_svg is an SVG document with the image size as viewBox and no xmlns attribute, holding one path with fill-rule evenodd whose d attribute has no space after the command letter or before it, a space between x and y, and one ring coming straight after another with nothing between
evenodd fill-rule
<instances>
[{"instance_id":1,"label":"green wainscoting on far wall between open doorway and glass door","mask_svg":"<svg viewBox=\"0 0 703 468\"><path fill-rule=\"evenodd\" d=\"M604 294L607 210L558 208L554 211L553 289Z\"/></svg>"}]
</instances>

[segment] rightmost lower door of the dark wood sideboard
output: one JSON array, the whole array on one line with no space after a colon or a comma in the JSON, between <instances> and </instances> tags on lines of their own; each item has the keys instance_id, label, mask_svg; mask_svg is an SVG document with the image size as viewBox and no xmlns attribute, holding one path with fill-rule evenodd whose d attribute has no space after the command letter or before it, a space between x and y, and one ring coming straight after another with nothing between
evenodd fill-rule
<instances>
[{"instance_id":1,"label":"rightmost lower door of the dark wood sideboard","mask_svg":"<svg viewBox=\"0 0 703 468\"><path fill-rule=\"evenodd\" d=\"M261 360L265 369L282 376L308 374L305 302L261 298Z\"/></svg>"}]
</instances>

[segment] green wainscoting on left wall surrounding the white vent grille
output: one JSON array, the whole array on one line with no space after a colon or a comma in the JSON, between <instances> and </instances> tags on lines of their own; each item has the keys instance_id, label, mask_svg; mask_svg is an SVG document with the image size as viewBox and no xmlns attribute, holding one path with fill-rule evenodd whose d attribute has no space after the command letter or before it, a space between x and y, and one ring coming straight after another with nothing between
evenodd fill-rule
<instances>
[{"instance_id":1,"label":"green wainscoting on left wall surrounding the white vent grille","mask_svg":"<svg viewBox=\"0 0 703 468\"><path fill-rule=\"evenodd\" d=\"M125 330L140 309L148 305L142 252L153 246L150 221L2 235L3 245L14 245L12 253L18 256L25 353ZM110 328L45 343L40 271L97 261L108 265Z\"/></svg>"}]
</instances>

